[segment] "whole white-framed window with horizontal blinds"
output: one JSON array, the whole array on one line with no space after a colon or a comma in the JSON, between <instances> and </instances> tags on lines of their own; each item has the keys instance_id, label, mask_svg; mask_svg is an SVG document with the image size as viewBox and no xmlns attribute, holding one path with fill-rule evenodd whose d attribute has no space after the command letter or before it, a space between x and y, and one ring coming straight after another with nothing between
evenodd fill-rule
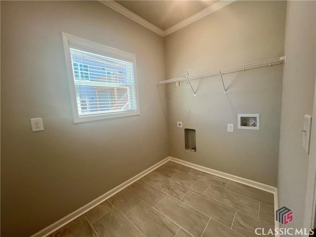
<instances>
[{"instance_id":1,"label":"whole white-framed window with horizontal blinds","mask_svg":"<svg viewBox=\"0 0 316 237\"><path fill-rule=\"evenodd\" d=\"M62 35L74 122L139 115L135 55Z\"/></svg>"}]
</instances>

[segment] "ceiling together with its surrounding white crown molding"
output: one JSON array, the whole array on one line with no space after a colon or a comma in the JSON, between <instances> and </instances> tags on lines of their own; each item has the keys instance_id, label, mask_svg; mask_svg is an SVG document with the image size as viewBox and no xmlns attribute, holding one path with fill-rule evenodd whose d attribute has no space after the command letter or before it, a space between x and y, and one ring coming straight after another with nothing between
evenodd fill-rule
<instances>
[{"instance_id":1,"label":"ceiling together with its surrounding white crown molding","mask_svg":"<svg viewBox=\"0 0 316 237\"><path fill-rule=\"evenodd\" d=\"M99 0L156 34L167 36L235 0Z\"/></svg>"}]
</instances>

